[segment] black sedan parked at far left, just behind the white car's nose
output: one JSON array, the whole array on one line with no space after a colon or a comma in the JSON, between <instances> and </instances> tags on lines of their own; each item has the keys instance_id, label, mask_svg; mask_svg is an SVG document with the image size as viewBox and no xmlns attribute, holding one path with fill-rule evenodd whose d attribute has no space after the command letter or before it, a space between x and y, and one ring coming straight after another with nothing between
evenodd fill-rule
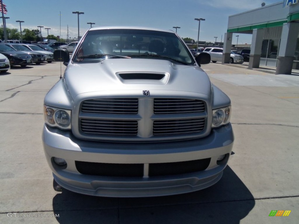
<instances>
[{"instance_id":1,"label":"black sedan parked at far left, just behind the white car's nose","mask_svg":"<svg viewBox=\"0 0 299 224\"><path fill-rule=\"evenodd\" d=\"M20 65L21 67L25 67L27 65L32 65L32 58L28 53L16 51L3 43L0 44L0 53L8 58L10 66Z\"/></svg>"}]
</instances>

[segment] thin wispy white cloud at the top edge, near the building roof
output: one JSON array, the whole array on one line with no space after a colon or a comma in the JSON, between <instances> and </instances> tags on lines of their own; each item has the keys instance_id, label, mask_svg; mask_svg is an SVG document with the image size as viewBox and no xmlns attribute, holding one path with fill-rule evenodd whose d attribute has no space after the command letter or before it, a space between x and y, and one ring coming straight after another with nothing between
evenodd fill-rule
<instances>
[{"instance_id":1,"label":"thin wispy white cloud at the top edge, near the building roof","mask_svg":"<svg viewBox=\"0 0 299 224\"><path fill-rule=\"evenodd\" d=\"M278 1L278 0L277 0ZM266 5L273 4L267 3L263 0L209 0L209 1L200 1L201 4L205 4L215 8L231 8L238 10L252 10L258 7L261 7L262 2L265 2ZM268 1L269 2L269 1Z\"/></svg>"}]
</instances>

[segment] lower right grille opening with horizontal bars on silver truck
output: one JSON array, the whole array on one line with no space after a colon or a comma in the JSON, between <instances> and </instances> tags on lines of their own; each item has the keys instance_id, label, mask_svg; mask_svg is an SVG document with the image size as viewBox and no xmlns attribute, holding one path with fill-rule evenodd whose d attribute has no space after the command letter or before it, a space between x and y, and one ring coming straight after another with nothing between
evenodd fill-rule
<instances>
[{"instance_id":1,"label":"lower right grille opening with horizontal bars on silver truck","mask_svg":"<svg viewBox=\"0 0 299 224\"><path fill-rule=\"evenodd\" d=\"M205 128L205 118L156 120L153 135L176 135L198 133Z\"/></svg>"}]
</instances>

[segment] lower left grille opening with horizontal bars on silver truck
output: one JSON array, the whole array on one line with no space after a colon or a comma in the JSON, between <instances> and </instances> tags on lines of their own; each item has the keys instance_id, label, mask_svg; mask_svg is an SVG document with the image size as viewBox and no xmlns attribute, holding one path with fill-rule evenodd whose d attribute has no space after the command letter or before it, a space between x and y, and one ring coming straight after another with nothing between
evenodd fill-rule
<instances>
[{"instance_id":1,"label":"lower left grille opening with horizontal bars on silver truck","mask_svg":"<svg viewBox=\"0 0 299 224\"><path fill-rule=\"evenodd\" d=\"M86 134L136 136L138 122L132 120L81 119L80 128Z\"/></svg>"}]
</instances>

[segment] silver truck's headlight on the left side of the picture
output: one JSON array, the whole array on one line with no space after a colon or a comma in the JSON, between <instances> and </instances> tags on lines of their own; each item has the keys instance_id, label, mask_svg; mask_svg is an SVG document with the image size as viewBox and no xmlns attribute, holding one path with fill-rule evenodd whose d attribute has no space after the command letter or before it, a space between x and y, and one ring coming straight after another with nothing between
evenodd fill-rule
<instances>
[{"instance_id":1,"label":"silver truck's headlight on the left side of the picture","mask_svg":"<svg viewBox=\"0 0 299 224\"><path fill-rule=\"evenodd\" d=\"M45 122L51 127L71 129L71 111L44 105Z\"/></svg>"}]
</instances>

